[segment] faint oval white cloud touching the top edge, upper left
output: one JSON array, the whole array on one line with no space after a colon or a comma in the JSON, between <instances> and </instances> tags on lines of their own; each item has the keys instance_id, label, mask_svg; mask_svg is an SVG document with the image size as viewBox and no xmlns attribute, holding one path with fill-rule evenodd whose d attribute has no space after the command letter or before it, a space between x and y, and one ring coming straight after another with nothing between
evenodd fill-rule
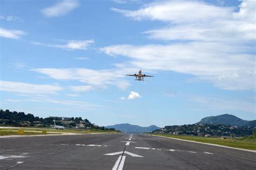
<instances>
[{"instance_id":1,"label":"faint oval white cloud touching the top edge, upper left","mask_svg":"<svg viewBox=\"0 0 256 170\"><path fill-rule=\"evenodd\" d=\"M76 0L64 0L58 2L53 6L43 9L41 12L46 17L60 17L64 16L79 6Z\"/></svg>"}]
</instances>

